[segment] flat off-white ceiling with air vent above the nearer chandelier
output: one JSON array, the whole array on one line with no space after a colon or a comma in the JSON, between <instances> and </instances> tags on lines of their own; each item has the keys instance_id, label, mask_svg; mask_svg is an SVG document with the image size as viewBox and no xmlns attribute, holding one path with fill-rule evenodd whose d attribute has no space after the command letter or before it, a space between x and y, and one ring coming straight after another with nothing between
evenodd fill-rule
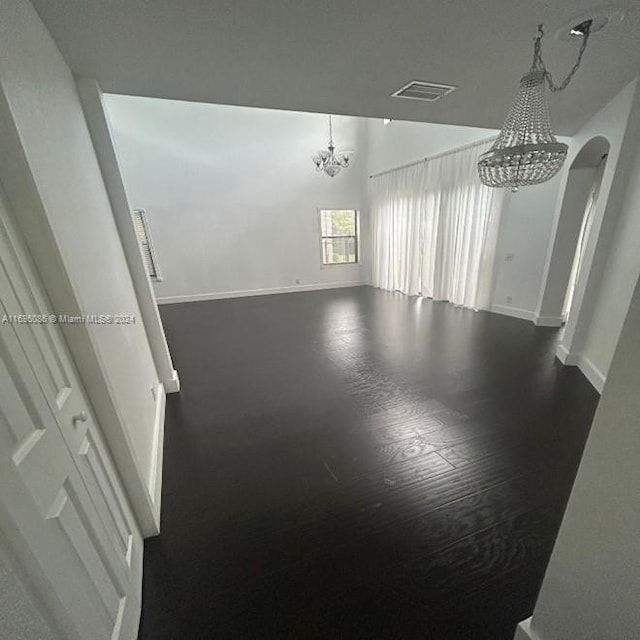
<instances>
[{"instance_id":1,"label":"flat off-white ceiling with air vent above the nearer chandelier","mask_svg":"<svg viewBox=\"0 0 640 640\"><path fill-rule=\"evenodd\" d=\"M597 0L596 0L597 2ZM554 33L586 0L33 0L73 71L103 90L221 104L500 127L538 22L556 80L576 44ZM640 70L640 2L593 36L551 96L575 132ZM391 98L410 80L458 85L434 103Z\"/></svg>"}]
</instances>

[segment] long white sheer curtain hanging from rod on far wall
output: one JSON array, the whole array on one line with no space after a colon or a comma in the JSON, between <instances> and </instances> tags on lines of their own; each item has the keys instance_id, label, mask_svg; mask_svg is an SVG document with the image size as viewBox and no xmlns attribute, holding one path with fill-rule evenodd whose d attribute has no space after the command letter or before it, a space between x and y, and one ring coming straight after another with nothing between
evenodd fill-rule
<instances>
[{"instance_id":1,"label":"long white sheer curtain hanging from rod on far wall","mask_svg":"<svg viewBox=\"0 0 640 640\"><path fill-rule=\"evenodd\" d=\"M503 190L478 178L482 142L372 178L373 284L490 306Z\"/></svg>"}]
</instances>

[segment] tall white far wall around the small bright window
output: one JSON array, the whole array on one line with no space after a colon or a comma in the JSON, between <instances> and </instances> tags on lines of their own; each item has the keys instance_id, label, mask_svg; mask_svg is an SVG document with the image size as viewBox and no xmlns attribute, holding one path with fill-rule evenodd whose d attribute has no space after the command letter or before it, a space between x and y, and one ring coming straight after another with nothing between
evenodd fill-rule
<instances>
[{"instance_id":1,"label":"tall white far wall around the small bright window","mask_svg":"<svg viewBox=\"0 0 640 640\"><path fill-rule=\"evenodd\" d=\"M105 96L131 205L146 209L160 302L360 283L364 264L321 267L317 211L361 210L366 239L366 127L334 118L353 166L335 178L311 157L326 116ZM366 244L366 243L365 243Z\"/></svg>"}]
</instances>

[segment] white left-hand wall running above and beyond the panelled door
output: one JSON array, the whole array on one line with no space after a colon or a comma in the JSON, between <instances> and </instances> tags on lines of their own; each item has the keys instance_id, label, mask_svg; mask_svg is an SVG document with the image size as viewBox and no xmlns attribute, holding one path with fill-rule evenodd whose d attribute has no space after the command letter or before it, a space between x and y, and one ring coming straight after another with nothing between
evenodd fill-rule
<instances>
[{"instance_id":1,"label":"white left-hand wall running above and beyond the panelled door","mask_svg":"<svg viewBox=\"0 0 640 640\"><path fill-rule=\"evenodd\" d=\"M46 311L139 319L74 78L27 0L0 4L0 86L0 179L53 305ZM140 516L151 509L159 384L144 326L63 331Z\"/></svg>"}]
</instances>

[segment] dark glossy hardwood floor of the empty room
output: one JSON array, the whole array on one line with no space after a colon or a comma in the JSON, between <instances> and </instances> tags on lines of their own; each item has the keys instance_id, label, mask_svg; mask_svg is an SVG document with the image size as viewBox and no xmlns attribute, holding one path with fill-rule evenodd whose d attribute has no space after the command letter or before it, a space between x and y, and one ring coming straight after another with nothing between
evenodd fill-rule
<instances>
[{"instance_id":1,"label":"dark glossy hardwood floor of the empty room","mask_svg":"<svg viewBox=\"0 0 640 640\"><path fill-rule=\"evenodd\" d=\"M369 287L161 311L141 639L512 639L598 401L557 330Z\"/></svg>"}]
</instances>

